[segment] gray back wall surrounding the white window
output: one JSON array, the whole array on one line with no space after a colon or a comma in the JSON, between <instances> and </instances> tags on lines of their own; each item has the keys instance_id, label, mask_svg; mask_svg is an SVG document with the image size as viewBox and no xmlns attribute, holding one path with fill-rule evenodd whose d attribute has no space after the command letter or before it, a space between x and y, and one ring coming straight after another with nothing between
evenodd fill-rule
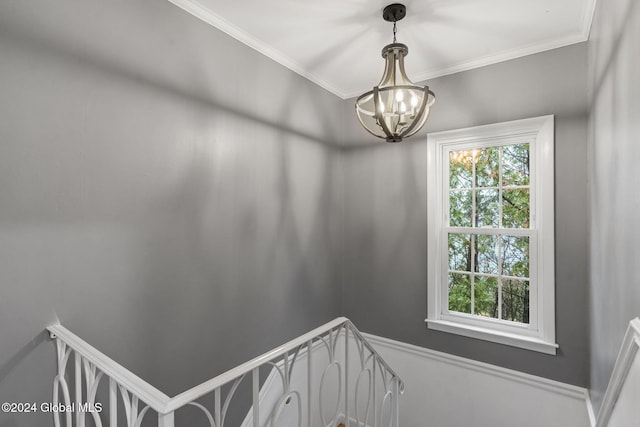
<instances>
[{"instance_id":1,"label":"gray back wall surrounding the white window","mask_svg":"<svg viewBox=\"0 0 640 427\"><path fill-rule=\"evenodd\" d=\"M408 61L410 62L410 57ZM372 143L346 124L343 307L362 330L588 385L586 43L429 81L427 131L556 116L557 356L426 328L426 139ZM352 109L352 101L345 110ZM345 111L347 114L347 111Z\"/></svg>"}]
</instances>

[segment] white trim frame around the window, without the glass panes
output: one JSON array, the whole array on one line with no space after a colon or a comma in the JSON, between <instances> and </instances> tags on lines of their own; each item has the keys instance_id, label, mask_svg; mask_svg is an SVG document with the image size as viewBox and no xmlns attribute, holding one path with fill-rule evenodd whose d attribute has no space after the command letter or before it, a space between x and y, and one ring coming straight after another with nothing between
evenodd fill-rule
<instances>
[{"instance_id":1,"label":"white trim frame around the window, without the glass panes","mask_svg":"<svg viewBox=\"0 0 640 427\"><path fill-rule=\"evenodd\" d=\"M555 244L554 244L554 117L543 116L486 126L430 133L427 137L428 203L428 304L429 329L493 341L515 347L556 354L555 342ZM532 181L532 251L537 265L531 272L536 292L531 325L505 324L493 319L446 313L443 301L444 151L448 146L490 144L499 139L530 141Z\"/></svg>"}]
</instances>

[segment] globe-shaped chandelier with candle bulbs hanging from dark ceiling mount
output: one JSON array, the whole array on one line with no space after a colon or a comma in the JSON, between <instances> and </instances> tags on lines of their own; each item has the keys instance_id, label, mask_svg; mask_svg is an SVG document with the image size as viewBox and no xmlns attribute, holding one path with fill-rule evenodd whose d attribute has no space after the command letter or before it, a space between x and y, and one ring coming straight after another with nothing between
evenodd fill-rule
<instances>
[{"instance_id":1,"label":"globe-shaped chandelier with candle bulbs hanging from dark ceiling mount","mask_svg":"<svg viewBox=\"0 0 640 427\"><path fill-rule=\"evenodd\" d=\"M393 22L393 43L382 49L384 74L373 90L356 100L356 113L362 126L387 142L400 142L418 132L436 100L428 86L412 83L404 70L404 57L409 48L396 42L396 22L406 13L406 7L398 3L384 8L382 18Z\"/></svg>"}]
</instances>

